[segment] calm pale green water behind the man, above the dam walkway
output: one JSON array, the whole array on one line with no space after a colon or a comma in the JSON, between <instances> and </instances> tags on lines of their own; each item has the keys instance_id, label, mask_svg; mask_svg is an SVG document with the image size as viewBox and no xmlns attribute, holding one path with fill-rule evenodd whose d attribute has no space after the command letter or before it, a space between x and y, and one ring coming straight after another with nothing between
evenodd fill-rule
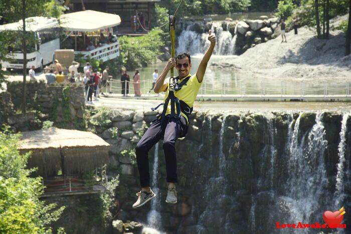
<instances>
[{"instance_id":1,"label":"calm pale green water behind the man, above the dam walkway","mask_svg":"<svg viewBox=\"0 0 351 234\"><path fill-rule=\"evenodd\" d=\"M192 56L192 68L190 71L191 74L196 73L202 56L202 54ZM209 64L211 64L211 62L220 61L225 58L230 59L233 57L235 57L235 55L213 55L209 61ZM147 91L152 86L152 73L154 69L158 69L158 74L160 74L165 64L166 62L160 62L139 69L143 95L147 94ZM134 71L128 71L128 74L132 80ZM177 70L175 69L174 74L177 74ZM119 77L117 77L117 80L119 80ZM133 95L133 85L131 84L129 88L129 93ZM300 95L303 93L305 95L323 95L324 93L346 94L347 88L348 92L350 93L351 79L349 78L321 79L315 77L315 79L308 78L301 80L286 77L256 77L244 72L208 67L199 94ZM113 92L120 93L120 90L120 83L114 83ZM151 91L151 94L155 95L153 91Z\"/></svg>"}]
</instances>

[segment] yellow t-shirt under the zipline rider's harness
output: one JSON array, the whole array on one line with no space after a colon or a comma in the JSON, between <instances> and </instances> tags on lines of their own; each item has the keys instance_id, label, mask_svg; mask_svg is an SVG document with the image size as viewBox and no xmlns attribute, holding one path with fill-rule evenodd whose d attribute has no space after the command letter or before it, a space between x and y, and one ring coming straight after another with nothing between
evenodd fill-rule
<instances>
[{"instance_id":1,"label":"yellow t-shirt under the zipline rider's harness","mask_svg":"<svg viewBox=\"0 0 351 234\"><path fill-rule=\"evenodd\" d=\"M178 82L181 83L182 80L179 80ZM167 98L168 92L169 92L169 78L166 78L165 81L167 82L167 90L166 90L166 94L164 96L164 100ZM191 75L190 79L188 80L188 82L186 84L184 84L182 86L181 90L174 91L174 96L178 97L180 100L183 100L191 108L191 107L193 107L195 98L198 95L201 83L199 82L196 74ZM163 103L164 103L164 101L163 101ZM175 110L175 113L177 113L177 107L175 106L175 104L174 104L174 110ZM166 115L170 114L170 100L168 102L167 111L165 114ZM183 112L181 112L181 114L188 121L187 115L185 115Z\"/></svg>"}]
</instances>

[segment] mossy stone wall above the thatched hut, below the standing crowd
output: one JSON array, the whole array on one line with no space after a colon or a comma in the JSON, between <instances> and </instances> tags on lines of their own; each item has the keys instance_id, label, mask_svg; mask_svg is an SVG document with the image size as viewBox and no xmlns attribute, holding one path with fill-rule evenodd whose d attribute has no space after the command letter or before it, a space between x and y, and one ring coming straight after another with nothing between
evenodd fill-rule
<instances>
[{"instance_id":1,"label":"mossy stone wall above the thatched hut, below the standing crowd","mask_svg":"<svg viewBox=\"0 0 351 234\"><path fill-rule=\"evenodd\" d=\"M84 90L81 84L47 85L44 82L28 82L26 114L16 114L15 111L21 110L23 83L10 82L7 87L9 94L2 94L0 101L9 105L8 107L2 105L1 111L8 113L3 114L3 121L15 129L22 131L38 129L45 120L51 120L56 126L63 128L83 127L81 124L84 113Z\"/></svg>"}]
</instances>

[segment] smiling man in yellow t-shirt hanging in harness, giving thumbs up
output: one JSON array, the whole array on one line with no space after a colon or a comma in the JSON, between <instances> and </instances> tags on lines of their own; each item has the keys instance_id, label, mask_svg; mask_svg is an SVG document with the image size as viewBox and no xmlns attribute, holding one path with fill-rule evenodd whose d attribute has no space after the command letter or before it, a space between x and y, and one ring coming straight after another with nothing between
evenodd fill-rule
<instances>
[{"instance_id":1,"label":"smiling man in yellow t-shirt hanging in harness, giving thumbs up","mask_svg":"<svg viewBox=\"0 0 351 234\"><path fill-rule=\"evenodd\" d=\"M153 90L156 93L161 91L166 92L164 103L162 103L163 112L151 122L150 127L136 145L136 161L139 170L141 190L136 193L138 198L133 204L133 208L144 205L147 201L156 196L150 188L147 153L150 148L160 140L162 135L167 171L166 180L168 182L166 202L177 203L177 190L175 189L175 183L178 182L177 157L174 146L175 141L180 137L184 137L187 133L189 116L193 110L194 100L198 94L207 63L216 44L216 36L211 34L211 30L209 30L208 39L211 42L210 46L206 50L196 74L189 74L190 68L192 67L189 53L181 52L175 59L174 57L168 59L167 64L155 83ZM179 76L174 79L166 78L168 71L172 67L177 69ZM171 101L169 101L169 99L171 99ZM173 103L173 106L171 106L171 103ZM180 111L175 111L175 108Z\"/></svg>"}]
</instances>

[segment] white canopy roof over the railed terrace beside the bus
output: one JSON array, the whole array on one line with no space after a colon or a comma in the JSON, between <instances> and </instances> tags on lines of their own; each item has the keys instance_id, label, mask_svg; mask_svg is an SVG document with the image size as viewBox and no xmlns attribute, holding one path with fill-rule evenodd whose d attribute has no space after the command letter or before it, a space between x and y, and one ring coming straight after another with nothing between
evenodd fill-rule
<instances>
[{"instance_id":1,"label":"white canopy roof over the railed terrace beside the bus","mask_svg":"<svg viewBox=\"0 0 351 234\"><path fill-rule=\"evenodd\" d=\"M68 31L96 31L121 23L118 14L83 10L60 16L61 27Z\"/></svg>"}]
</instances>

